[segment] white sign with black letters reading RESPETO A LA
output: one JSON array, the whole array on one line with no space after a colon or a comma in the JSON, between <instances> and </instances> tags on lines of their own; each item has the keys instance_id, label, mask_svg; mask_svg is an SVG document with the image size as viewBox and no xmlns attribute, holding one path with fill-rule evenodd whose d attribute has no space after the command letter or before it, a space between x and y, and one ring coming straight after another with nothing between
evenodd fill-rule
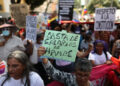
<instances>
[{"instance_id":1,"label":"white sign with black letters reading RESPETO A LA","mask_svg":"<svg viewBox=\"0 0 120 86\"><path fill-rule=\"evenodd\" d=\"M96 8L95 10L95 31L113 31L115 23L115 7Z\"/></svg>"}]
</instances>

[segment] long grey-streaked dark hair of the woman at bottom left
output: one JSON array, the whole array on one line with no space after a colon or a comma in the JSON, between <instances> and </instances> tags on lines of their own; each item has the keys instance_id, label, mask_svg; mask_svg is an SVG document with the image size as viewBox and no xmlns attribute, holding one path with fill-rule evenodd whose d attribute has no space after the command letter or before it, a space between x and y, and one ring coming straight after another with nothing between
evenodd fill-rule
<instances>
[{"instance_id":1,"label":"long grey-streaked dark hair of the woman at bottom left","mask_svg":"<svg viewBox=\"0 0 120 86\"><path fill-rule=\"evenodd\" d=\"M26 82L24 83L24 86L26 86L26 84L27 84L27 86L30 86L29 73L30 73L30 71L33 70L33 67L30 64L27 55L23 51L16 50L16 51L13 51L11 54L9 54L7 60L12 59L12 58L15 58L16 60L18 60L21 64L23 64L25 66L25 70L22 75L22 81L23 81L23 78L26 77ZM3 84L7 80L9 80L9 78L10 78L9 73L7 73L7 77L3 81L1 86L3 86Z\"/></svg>"}]
</instances>

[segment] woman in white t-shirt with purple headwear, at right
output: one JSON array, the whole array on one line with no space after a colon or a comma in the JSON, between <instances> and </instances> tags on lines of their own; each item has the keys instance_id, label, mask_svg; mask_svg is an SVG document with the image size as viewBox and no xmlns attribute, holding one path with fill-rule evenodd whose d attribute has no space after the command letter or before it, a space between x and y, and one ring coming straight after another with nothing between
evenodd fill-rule
<instances>
[{"instance_id":1,"label":"woman in white t-shirt with purple headwear, at right","mask_svg":"<svg viewBox=\"0 0 120 86\"><path fill-rule=\"evenodd\" d=\"M111 64L110 58L112 55L107 50L107 44L102 40L94 42L94 50L89 54L88 59L93 66L101 64Z\"/></svg>"}]
</instances>

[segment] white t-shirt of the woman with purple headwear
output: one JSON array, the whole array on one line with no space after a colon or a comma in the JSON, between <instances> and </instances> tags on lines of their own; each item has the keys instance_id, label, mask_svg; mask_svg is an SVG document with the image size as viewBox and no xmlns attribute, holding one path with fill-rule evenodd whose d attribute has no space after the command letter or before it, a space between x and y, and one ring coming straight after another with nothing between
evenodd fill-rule
<instances>
[{"instance_id":1,"label":"white t-shirt of the woman with purple headwear","mask_svg":"<svg viewBox=\"0 0 120 86\"><path fill-rule=\"evenodd\" d=\"M107 52L107 58L111 59L112 55ZM95 62L95 65L100 65L100 64L104 64L106 62L106 56L104 54L104 52L101 55L98 55L96 53L90 53L89 60L93 60Z\"/></svg>"}]
</instances>

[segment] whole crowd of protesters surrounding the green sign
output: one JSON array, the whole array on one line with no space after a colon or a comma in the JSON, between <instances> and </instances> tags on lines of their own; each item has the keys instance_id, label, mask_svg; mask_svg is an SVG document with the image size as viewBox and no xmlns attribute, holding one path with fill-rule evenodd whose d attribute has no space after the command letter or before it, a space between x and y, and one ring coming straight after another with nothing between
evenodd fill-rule
<instances>
[{"instance_id":1,"label":"whole crowd of protesters surrounding the green sign","mask_svg":"<svg viewBox=\"0 0 120 86\"><path fill-rule=\"evenodd\" d=\"M45 29L37 32L33 44L25 39L25 28L16 27L11 19L1 20L0 86L120 86L120 25L116 26L112 32L94 31L94 24L52 21L47 29L81 35L76 61L69 62L40 58L45 54ZM114 70L105 74L104 82L99 82L103 85L90 81L92 67L113 63ZM52 85L55 80L58 82Z\"/></svg>"}]
</instances>

